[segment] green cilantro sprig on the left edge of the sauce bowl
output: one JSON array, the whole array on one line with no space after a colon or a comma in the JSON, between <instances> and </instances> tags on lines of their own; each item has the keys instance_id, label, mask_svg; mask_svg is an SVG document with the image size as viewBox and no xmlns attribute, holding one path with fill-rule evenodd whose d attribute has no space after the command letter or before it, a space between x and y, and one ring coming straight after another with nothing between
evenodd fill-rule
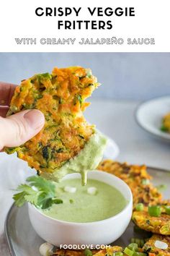
<instances>
[{"instance_id":1,"label":"green cilantro sprig on the left edge of the sauce bowl","mask_svg":"<svg viewBox=\"0 0 170 256\"><path fill-rule=\"evenodd\" d=\"M37 208L50 208L53 204L63 203L63 200L58 199L55 193L55 184L40 176L30 176L27 178L28 184L21 184L17 187L17 194L14 194L13 199L15 205L22 207L25 202L30 202Z\"/></svg>"}]
</instances>

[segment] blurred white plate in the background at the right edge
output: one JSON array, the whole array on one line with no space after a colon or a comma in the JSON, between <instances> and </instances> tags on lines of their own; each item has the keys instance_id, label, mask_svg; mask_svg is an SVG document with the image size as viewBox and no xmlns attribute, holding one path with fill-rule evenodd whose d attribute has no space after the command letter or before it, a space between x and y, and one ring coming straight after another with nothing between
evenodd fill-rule
<instances>
[{"instance_id":1,"label":"blurred white plate in the background at the right edge","mask_svg":"<svg viewBox=\"0 0 170 256\"><path fill-rule=\"evenodd\" d=\"M138 106L135 112L140 127L156 137L170 142L170 134L161 131L161 120L170 112L170 96L154 98Z\"/></svg>"}]
</instances>

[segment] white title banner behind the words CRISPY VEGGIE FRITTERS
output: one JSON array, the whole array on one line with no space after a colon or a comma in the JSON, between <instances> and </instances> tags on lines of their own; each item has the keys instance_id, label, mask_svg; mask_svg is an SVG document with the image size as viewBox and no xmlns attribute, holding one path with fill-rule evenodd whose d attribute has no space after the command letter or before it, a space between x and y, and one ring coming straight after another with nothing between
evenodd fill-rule
<instances>
[{"instance_id":1,"label":"white title banner behind the words CRISPY VEGGIE FRITTERS","mask_svg":"<svg viewBox=\"0 0 170 256\"><path fill-rule=\"evenodd\" d=\"M58 17L37 17L37 7L82 7L79 20L110 20L109 17L90 17L86 7L135 7L135 17L112 17L114 28L112 30L57 30ZM169 0L107 0L78 1L63 0L58 4L55 0L6 0L1 1L1 51L169 51ZM75 20L75 16L66 17L66 20ZM62 17L60 18L62 20ZM3 25L2 25L3 24ZM156 45L17 45L14 38L155 38Z\"/></svg>"}]
</instances>

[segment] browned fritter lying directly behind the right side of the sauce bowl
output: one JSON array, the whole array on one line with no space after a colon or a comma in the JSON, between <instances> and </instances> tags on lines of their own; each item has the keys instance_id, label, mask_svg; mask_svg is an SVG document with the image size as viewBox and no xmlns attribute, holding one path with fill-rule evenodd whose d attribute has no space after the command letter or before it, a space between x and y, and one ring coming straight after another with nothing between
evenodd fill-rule
<instances>
[{"instance_id":1,"label":"browned fritter lying directly behind the right side of the sauce bowl","mask_svg":"<svg viewBox=\"0 0 170 256\"><path fill-rule=\"evenodd\" d=\"M142 202L143 205L157 205L161 202L161 193L151 183L151 176L146 171L146 166L129 165L112 160L105 160L98 166L99 170L122 179L133 192L133 205Z\"/></svg>"}]
</instances>

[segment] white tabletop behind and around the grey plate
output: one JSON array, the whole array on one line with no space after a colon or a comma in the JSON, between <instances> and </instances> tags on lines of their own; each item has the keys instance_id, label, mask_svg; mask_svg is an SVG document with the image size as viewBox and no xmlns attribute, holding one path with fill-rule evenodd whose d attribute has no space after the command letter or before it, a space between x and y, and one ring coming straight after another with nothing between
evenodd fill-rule
<instances>
[{"instance_id":1,"label":"white tabletop behind and around the grey plate","mask_svg":"<svg viewBox=\"0 0 170 256\"><path fill-rule=\"evenodd\" d=\"M86 110L86 118L120 147L119 161L156 166L170 169L170 144L156 140L135 123L134 112L138 102L130 101L92 101ZM12 190L24 182L32 170L27 163L13 155L0 155L0 255L9 256L4 241L4 218L12 203Z\"/></svg>"}]
</instances>

